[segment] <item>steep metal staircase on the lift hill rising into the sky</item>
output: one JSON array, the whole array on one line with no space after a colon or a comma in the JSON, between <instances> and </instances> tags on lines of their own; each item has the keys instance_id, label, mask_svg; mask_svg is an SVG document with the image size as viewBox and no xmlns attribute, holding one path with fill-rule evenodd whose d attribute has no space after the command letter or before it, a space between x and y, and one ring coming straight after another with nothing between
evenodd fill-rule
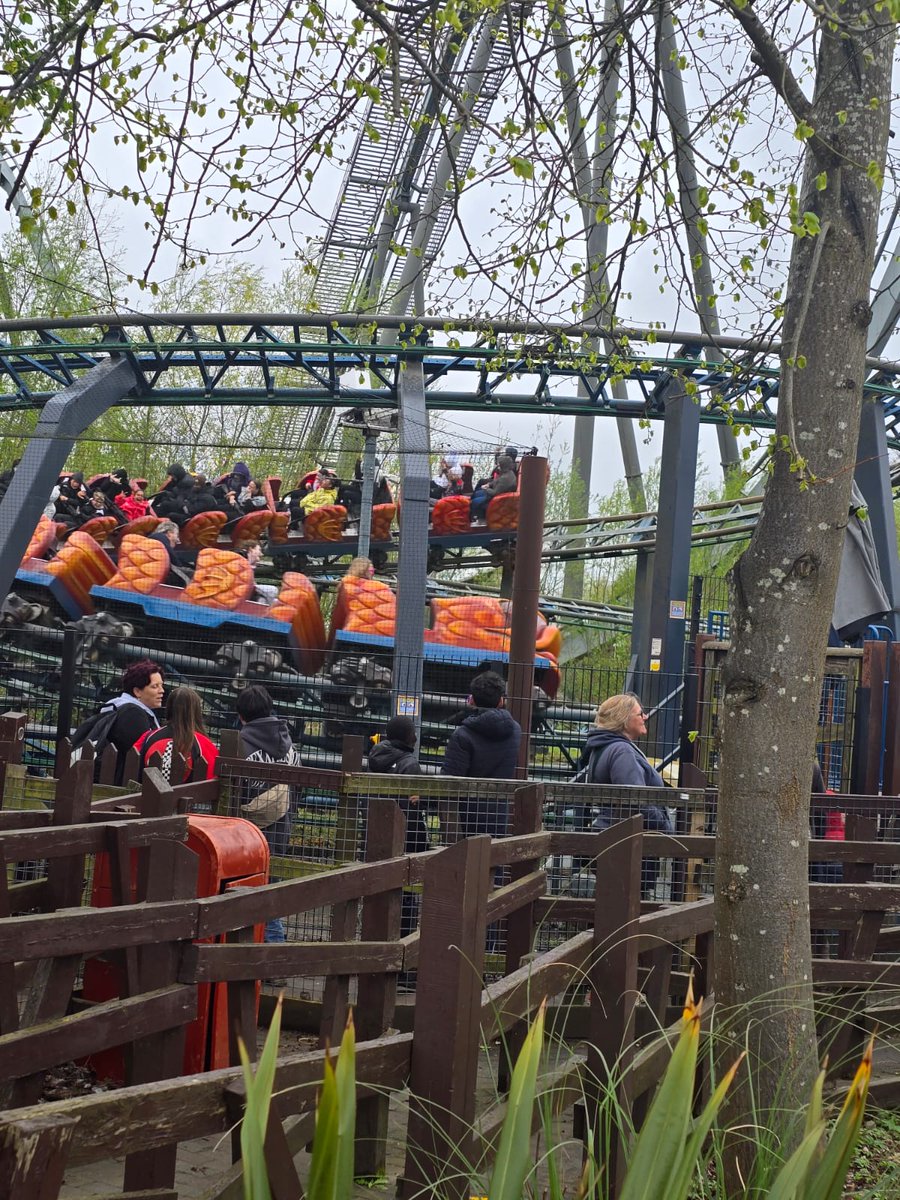
<instances>
[{"instance_id":1,"label":"steep metal staircase on the lift hill rising into the sky","mask_svg":"<svg viewBox=\"0 0 900 1200\"><path fill-rule=\"evenodd\" d=\"M455 124L452 96L469 109L454 149L454 178L462 180L510 65L509 42L493 36L485 70L473 76L487 20L496 17L480 18L462 34L446 30L436 43L431 24L422 23L418 11L398 14L392 60L378 78L379 98L368 102L361 120L323 239L313 293L322 312L390 306L420 221L430 223L421 257L421 275L427 277L446 239L456 200L456 191L448 187L437 211L420 206L431 193L442 155L448 152L448 131ZM446 82L446 90L428 80L412 48ZM466 86L473 78L479 86L470 100ZM409 311L412 296L410 290L403 312ZM296 422L288 444L312 434L314 449L325 448L319 457L326 456L337 427L334 414L298 413Z\"/></svg>"}]
</instances>

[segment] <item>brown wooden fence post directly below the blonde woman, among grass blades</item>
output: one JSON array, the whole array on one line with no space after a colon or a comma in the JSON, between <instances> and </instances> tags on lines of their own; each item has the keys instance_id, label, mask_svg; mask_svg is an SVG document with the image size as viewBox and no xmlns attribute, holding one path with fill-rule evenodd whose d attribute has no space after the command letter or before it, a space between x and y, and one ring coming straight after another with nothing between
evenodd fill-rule
<instances>
[{"instance_id":1,"label":"brown wooden fence post directly below the blonde woman, among grass blades","mask_svg":"<svg viewBox=\"0 0 900 1200\"><path fill-rule=\"evenodd\" d=\"M590 980L590 1036L586 1100L598 1160L606 1164L610 1196L625 1174L617 1112L610 1110L610 1081L623 1122L630 1112L628 1067L634 1056L637 1003L637 918L641 916L643 818L630 817L598 834L594 948Z\"/></svg>"}]
</instances>

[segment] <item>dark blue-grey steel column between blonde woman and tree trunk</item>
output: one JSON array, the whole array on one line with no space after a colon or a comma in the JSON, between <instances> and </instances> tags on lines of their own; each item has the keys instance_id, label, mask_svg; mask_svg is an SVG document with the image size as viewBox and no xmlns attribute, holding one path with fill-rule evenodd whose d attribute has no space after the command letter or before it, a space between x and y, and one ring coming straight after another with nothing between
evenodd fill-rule
<instances>
[{"instance_id":1,"label":"dark blue-grey steel column between blonde woman and tree trunk","mask_svg":"<svg viewBox=\"0 0 900 1200\"><path fill-rule=\"evenodd\" d=\"M700 406L686 395L677 376L666 386L664 406L649 643L644 643L641 666L680 676L688 619Z\"/></svg>"}]
</instances>

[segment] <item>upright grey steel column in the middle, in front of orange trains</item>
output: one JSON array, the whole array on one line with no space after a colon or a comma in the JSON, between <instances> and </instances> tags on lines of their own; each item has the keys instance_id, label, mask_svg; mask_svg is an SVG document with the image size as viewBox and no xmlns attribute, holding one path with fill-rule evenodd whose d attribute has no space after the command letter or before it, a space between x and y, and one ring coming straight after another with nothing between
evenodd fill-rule
<instances>
[{"instance_id":1,"label":"upright grey steel column in the middle, in front of orange trains","mask_svg":"<svg viewBox=\"0 0 900 1200\"><path fill-rule=\"evenodd\" d=\"M421 728L425 584L428 564L428 414L425 372L418 359L400 372L400 480L402 520L397 556L397 622L391 713Z\"/></svg>"}]
</instances>

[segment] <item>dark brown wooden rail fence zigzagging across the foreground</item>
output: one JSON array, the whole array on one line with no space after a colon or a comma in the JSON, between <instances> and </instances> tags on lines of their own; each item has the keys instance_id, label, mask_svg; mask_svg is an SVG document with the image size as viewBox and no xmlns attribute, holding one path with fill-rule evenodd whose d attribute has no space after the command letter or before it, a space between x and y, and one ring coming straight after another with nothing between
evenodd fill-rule
<instances>
[{"instance_id":1,"label":"dark brown wooden rail fence zigzagging across the foreground","mask_svg":"<svg viewBox=\"0 0 900 1200\"><path fill-rule=\"evenodd\" d=\"M14 732L4 739L10 732L0 721L0 743L14 746ZM0 810L4 868L22 860L47 864L38 878L18 883L0 871L6 1108L0 1114L0 1194L54 1200L67 1163L124 1154L124 1194L174 1200L178 1144L222 1134L240 1116L236 1038L254 1046L257 980L270 976L325 979L322 1049L280 1060L266 1141L276 1200L302 1194L294 1157L311 1135L324 1046L338 1040L354 989L359 1174L384 1170L390 1093L408 1086L400 1194L426 1189L451 1200L467 1196L469 1164L490 1158L504 1116L503 1104L490 1112L476 1109L481 1046L503 1038L514 1055L538 1004L580 989L580 1034L589 1049L557 1058L542 1086L553 1091L558 1109L577 1106L580 1128L593 1132L610 1177L620 1180L624 1154L618 1139L610 1138L605 1080L614 1068L618 1100L640 1122L667 1061L660 1031L671 1025L673 996L683 991L673 970L690 967L697 991L712 991L712 900L642 904L641 862L656 854L709 859L712 838L643 835L640 817L604 833L546 830L545 788L526 785L514 793L510 836L476 836L404 856L400 809L389 798L371 797L367 862L197 898L184 810L215 808L227 788L217 781L172 788L148 772L139 793L92 802L92 769L88 758L67 772L52 811ZM241 764L235 760L228 769L239 774ZM259 764L252 770L258 776ZM264 768L266 778L353 793L340 773L290 772ZM828 1036L833 1043L842 1038L842 1054L852 1054L869 985L900 988L900 966L872 961L898 944L898 926L886 925L886 916L900 908L900 887L868 882L876 865L900 865L900 846L874 839L869 814L887 800L835 797L822 804L851 811L852 840L810 848L814 862L840 862L850 877L814 886L810 894L815 925L839 931L840 938L840 958L817 960L816 979L841 991L851 1015ZM83 902L85 874L97 854L109 863L113 905L103 910ZM560 856L595 864L601 886L594 899L547 894L546 864ZM505 882L496 886L500 869ZM421 922L401 937L402 894L410 887L422 892ZM254 926L271 917L319 908L330 912L324 941L253 941ZM482 986L485 934L499 920L506 923L505 970ZM581 931L535 958L535 931L548 920L574 922ZM85 960L97 955L116 958L122 995L85 1003L76 985ZM389 1032L397 978L412 971L418 972L413 1030ZM186 1028L197 1014L198 989L206 985L224 991L233 1066L180 1076ZM128 1086L38 1103L44 1070L122 1045ZM896 1099L892 1088L882 1090L882 1100ZM238 1170L222 1181L222 1200L240 1194Z\"/></svg>"}]
</instances>

